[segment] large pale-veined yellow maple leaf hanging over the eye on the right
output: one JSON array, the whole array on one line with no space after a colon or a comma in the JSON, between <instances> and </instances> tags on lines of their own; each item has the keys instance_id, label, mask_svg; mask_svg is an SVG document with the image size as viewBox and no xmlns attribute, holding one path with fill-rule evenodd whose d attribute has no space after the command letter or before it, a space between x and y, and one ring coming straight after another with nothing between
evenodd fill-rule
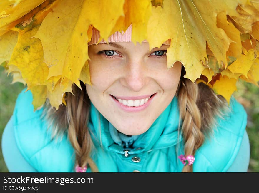
<instances>
[{"instance_id":1,"label":"large pale-veined yellow maple leaf hanging over the eye on the right","mask_svg":"<svg viewBox=\"0 0 259 193\"><path fill-rule=\"evenodd\" d=\"M237 2L231 2L233 5L237 5ZM232 40L228 38L223 29L217 27L217 12L214 11L216 5L210 1L193 0L164 0L163 5L164 8L162 9L157 7L162 11L161 17L157 18L160 19L161 24L148 28L148 31L156 31L159 30L157 28L162 28L164 31L171 32L171 46L167 49L168 68L175 61L181 61L186 70L185 78L194 82L200 77L204 66L206 66L206 42L220 66L223 66L222 63L227 63L225 53ZM228 9L228 7L224 7L224 9L219 7L216 10L224 11ZM154 38L160 39L160 34L154 36ZM148 41L151 44L153 42L152 39ZM162 42L162 39L160 42Z\"/></svg>"}]
</instances>

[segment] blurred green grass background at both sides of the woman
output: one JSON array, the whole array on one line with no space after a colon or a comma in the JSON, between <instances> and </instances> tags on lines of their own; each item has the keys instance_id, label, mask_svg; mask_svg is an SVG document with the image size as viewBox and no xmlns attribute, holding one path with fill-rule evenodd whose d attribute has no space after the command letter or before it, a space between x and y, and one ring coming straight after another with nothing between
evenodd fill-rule
<instances>
[{"instance_id":1,"label":"blurred green grass background at both sides of the woman","mask_svg":"<svg viewBox=\"0 0 259 193\"><path fill-rule=\"evenodd\" d=\"M21 90L25 88L22 83L10 84L11 82L11 74L7 77L4 67L0 66L0 141L4 127L13 113L16 98ZM246 127L250 140L248 172L259 172L259 88L241 80L237 83L237 88L238 91L235 91L233 95L244 106L248 114ZM0 172L8 172L2 156L1 143Z\"/></svg>"}]
</instances>

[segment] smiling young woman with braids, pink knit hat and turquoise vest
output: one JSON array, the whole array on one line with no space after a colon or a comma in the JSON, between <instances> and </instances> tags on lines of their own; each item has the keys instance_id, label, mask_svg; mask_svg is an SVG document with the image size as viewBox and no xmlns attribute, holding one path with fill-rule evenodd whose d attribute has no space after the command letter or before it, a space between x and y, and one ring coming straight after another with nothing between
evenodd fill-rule
<instances>
[{"instance_id":1,"label":"smiling young woman with braids, pink knit hat and turquoise vest","mask_svg":"<svg viewBox=\"0 0 259 193\"><path fill-rule=\"evenodd\" d=\"M134 44L132 25L99 38L93 28L91 85L73 84L58 110L47 99L34 111L31 90L19 94L2 137L10 172L247 171L243 106L184 78L180 61L168 69L170 39Z\"/></svg>"}]
</instances>

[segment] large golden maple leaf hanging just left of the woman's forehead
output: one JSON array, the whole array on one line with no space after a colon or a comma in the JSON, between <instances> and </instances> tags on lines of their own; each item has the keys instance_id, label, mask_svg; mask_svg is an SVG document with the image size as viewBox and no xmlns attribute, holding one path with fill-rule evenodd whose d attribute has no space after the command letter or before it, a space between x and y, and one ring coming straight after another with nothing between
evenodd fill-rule
<instances>
[{"instance_id":1,"label":"large golden maple leaf hanging just left of the woman's forehead","mask_svg":"<svg viewBox=\"0 0 259 193\"><path fill-rule=\"evenodd\" d=\"M110 1L107 1L107 6L114 6L114 10L117 11L119 11L118 4L123 5L123 2L112 1L111 4ZM111 9L101 10L105 6L99 5L99 1L60 0L53 7L53 12L46 16L35 37L42 41L44 61L49 67L48 79L52 76L62 75L62 77L67 77L79 85L78 78L88 59L89 33L86 33L88 26L93 24L100 29L107 28L107 26L110 26L111 30L113 28L111 22L114 17L105 15L112 14L107 12ZM119 16L117 11L112 12ZM103 14L103 21L97 19L100 18L99 14ZM104 38L108 38L109 30L105 30L105 33L104 30L100 31Z\"/></svg>"}]
</instances>

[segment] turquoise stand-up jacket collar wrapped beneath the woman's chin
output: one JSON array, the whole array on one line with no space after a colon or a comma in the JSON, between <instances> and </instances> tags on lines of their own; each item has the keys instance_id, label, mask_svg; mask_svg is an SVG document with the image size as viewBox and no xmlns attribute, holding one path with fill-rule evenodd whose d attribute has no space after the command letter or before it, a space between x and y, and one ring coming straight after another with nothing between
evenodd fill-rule
<instances>
[{"instance_id":1,"label":"turquoise stand-up jacket collar wrapped beneath the woman's chin","mask_svg":"<svg viewBox=\"0 0 259 193\"><path fill-rule=\"evenodd\" d=\"M180 124L181 122L180 120ZM120 154L125 154L125 150L128 154L137 154L176 145L182 140L182 138L178 139L178 123L179 108L175 96L145 133L126 139L132 143L131 148L123 147L122 136L118 135L117 129L99 113L92 103L88 127L94 146L101 146L108 151Z\"/></svg>"}]
</instances>

